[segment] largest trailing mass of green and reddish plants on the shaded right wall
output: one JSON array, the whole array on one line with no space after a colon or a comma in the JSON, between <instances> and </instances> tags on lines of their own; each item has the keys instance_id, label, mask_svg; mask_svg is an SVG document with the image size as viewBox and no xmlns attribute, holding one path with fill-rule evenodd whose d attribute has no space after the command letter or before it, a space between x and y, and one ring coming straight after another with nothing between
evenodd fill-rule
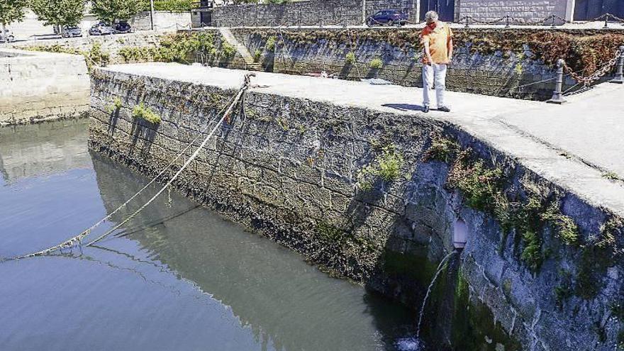
<instances>
[{"instance_id":1,"label":"largest trailing mass of green and reddish plants on the shaded right wall","mask_svg":"<svg viewBox=\"0 0 624 351\"><path fill-rule=\"evenodd\" d=\"M503 237L511 230L520 235L523 248L520 257L533 272L537 272L549 250L543 247L542 233L550 227L564 245L579 245L579 228L572 218L561 212L557 192L528 179L520 182L523 196L516 194L514 201L506 193L511 184L502 167L491 167L474 155L472 150L461 150L459 144L436 133L430 135L431 146L423 160L448 162L450 172L447 189L460 191L464 203L476 210L490 213L501 225ZM603 235L610 242L613 235Z\"/></svg>"}]
</instances>

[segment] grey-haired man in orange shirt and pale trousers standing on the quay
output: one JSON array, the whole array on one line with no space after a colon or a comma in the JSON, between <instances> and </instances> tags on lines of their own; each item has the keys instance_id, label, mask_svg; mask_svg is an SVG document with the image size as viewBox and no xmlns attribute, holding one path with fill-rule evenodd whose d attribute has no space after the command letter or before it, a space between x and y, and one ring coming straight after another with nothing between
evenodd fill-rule
<instances>
[{"instance_id":1,"label":"grey-haired man in orange shirt and pale trousers standing on the quay","mask_svg":"<svg viewBox=\"0 0 624 351\"><path fill-rule=\"evenodd\" d=\"M427 26L420 33L420 42L425 47L423 55L423 106L429 112L430 89L435 83L435 97L438 111L450 112L444 104L446 69L453 58L453 32L447 23L438 21L438 13L425 13Z\"/></svg>"}]
</instances>

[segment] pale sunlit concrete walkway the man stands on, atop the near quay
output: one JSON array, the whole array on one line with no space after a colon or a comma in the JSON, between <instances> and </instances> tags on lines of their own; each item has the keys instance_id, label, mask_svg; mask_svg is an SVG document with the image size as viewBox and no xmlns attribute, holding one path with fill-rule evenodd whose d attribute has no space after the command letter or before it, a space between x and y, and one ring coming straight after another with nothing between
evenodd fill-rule
<instances>
[{"instance_id":1,"label":"pale sunlit concrete walkway the man stands on, atop the near quay","mask_svg":"<svg viewBox=\"0 0 624 351\"><path fill-rule=\"evenodd\" d=\"M115 65L110 71L221 88L240 87L245 71L178 64ZM449 92L451 113L420 111L422 89L255 72L253 90L342 106L418 115L455 123L589 204L624 216L624 86L602 84L562 106Z\"/></svg>"}]
</instances>

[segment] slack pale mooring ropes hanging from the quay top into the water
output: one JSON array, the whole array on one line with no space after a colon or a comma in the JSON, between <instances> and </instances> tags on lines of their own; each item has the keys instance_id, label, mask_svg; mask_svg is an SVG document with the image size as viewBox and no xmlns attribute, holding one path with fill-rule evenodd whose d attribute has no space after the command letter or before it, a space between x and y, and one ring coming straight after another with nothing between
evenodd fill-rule
<instances>
[{"instance_id":1,"label":"slack pale mooring ropes hanging from the quay top into the water","mask_svg":"<svg viewBox=\"0 0 624 351\"><path fill-rule=\"evenodd\" d=\"M238 104L238 101L240 100L241 96L243 96L243 93L245 92L245 90L247 90L247 88L250 86L250 77L253 77L253 76L255 76L255 74L253 74L253 73L245 74L245 78L244 78L244 81L243 81L243 86L239 89L238 94L235 96L233 101L230 100L231 104L228 106L228 109L225 111L225 113L223 113L223 116L221 117L221 119L218 121L218 123L216 123L216 125L213 127L211 132L208 133L208 136L206 138L204 138L204 141L199 145L199 147L196 148L195 152L193 152L191 157L189 157L189 159L186 160L186 162L184 162L184 165L182 165L182 167L180 167L180 169L178 169L176 174L174 174L174 176L171 179L169 179L169 182L167 182L167 184L165 184L165 186L163 186L162 189L160 189L160 191L158 191L154 196L152 196L152 198L149 201L147 201L147 203L145 203L143 206L141 206L137 211L133 212L130 216L128 216L125 220L121 221L117 225L114 225L113 228L111 228L109 230L106 230L106 232L104 234L100 235L95 240L92 240L91 242L87 243L87 245L85 245L85 246L88 247L90 245L93 245L94 243L99 242L99 240L102 240L102 239L106 238L106 236L108 236L111 233L113 233L115 230L120 228L122 225L128 223L128 221L130 221L132 218L134 218L136 215L138 215L138 213L143 211L143 209L145 209L147 206L149 206L158 196L160 196L160 194L162 194L163 191L165 191L175 181L175 179L177 179L177 177L179 177L179 175L182 173L182 171L184 171L184 169L186 169L186 167L188 167L191 164L191 162L193 162L193 160L197 157L197 155L199 155L199 152L201 151L201 149L204 148L204 146L206 146L206 143L208 143L208 140L210 140L210 138L212 138L212 136L216 132L217 128L219 128L219 126L221 126L223 121L225 121L228 118L228 116L230 115L230 113L232 113L232 110L233 110L234 106L236 106L236 104ZM221 111L223 111L223 108L221 109ZM221 111L219 113L221 113ZM23 258L28 258L28 257L48 255L49 253L55 252L55 251L60 250L62 248L73 247L74 245L81 244L82 240L87 235L89 235L89 233L91 233L91 230L93 230L94 228L99 226L101 223L104 223L104 221L106 221L108 218L111 218L111 216L113 216L113 214L115 214L121 208L126 206L130 201L135 199L136 196L138 196L145 189L147 189L148 186L150 186L157 179L159 179L162 176L162 174L165 174L165 172L167 172L169 170L169 168L172 165L174 165L174 162L176 162L179 159L180 156L184 155L186 150L189 150L191 145L194 145L196 140L199 139L199 136L202 135L204 133L204 131L208 129L208 126L209 125L207 125L204 130L201 130L201 132L197 135L197 137L194 140L192 140L191 143L189 143L189 145L187 145L184 148L184 150L182 150L182 152L180 152L177 155L177 157L175 157L174 160L172 160L172 162L170 162L169 165L167 165L167 167L165 167L165 169L162 169L162 171L156 177L154 177L149 183L147 183L145 186L143 186L142 189L140 189L136 194L134 194L132 197L130 197L130 199L128 199L125 203L121 204L121 206L118 206L118 208L116 208L113 212L109 213L108 216L102 218L96 224L91 225L91 227L88 228L87 230L84 230L79 235L76 235L76 236L74 236L72 238L69 238L68 240L65 240L64 242L60 243L59 245L48 247L45 250L40 250L38 252L32 252L32 253L30 253L28 255L20 255L20 256L16 256L16 257L0 258L0 261L21 260Z\"/></svg>"}]
</instances>

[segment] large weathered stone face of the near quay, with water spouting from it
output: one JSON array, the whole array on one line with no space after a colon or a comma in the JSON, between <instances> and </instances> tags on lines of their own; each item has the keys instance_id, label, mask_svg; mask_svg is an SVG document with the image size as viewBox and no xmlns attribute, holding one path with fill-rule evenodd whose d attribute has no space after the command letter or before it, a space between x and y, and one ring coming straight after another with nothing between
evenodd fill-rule
<instances>
[{"instance_id":1,"label":"large weathered stone face of the near quay, with water spouting from it","mask_svg":"<svg viewBox=\"0 0 624 351\"><path fill-rule=\"evenodd\" d=\"M216 121L217 111L235 95L232 86L220 84L98 70L92 79L89 146L153 177L201 133L201 126ZM121 108L111 112L116 99ZM140 103L159 113L162 122L133 118L133 106ZM425 317L428 334L439 340L430 345L613 351L622 341L623 262L607 259L603 249L564 245L546 228L542 245L548 256L538 271L530 269L521 250L530 233L503 229L498 217L469 206L468 195L449 186L457 166L445 162L443 154L428 159L435 149L433 135L456 140L480 157L478 162L506 165L511 170L506 191L540 184L535 189L559 194L561 211L578 225L583 240L601 233L613 241L608 245L622 247L621 227L601 229L614 221L604 208L435 119L268 94L262 88L247 91L235 111L174 185L330 274L418 308L435 267L453 248L453 225L463 218L469 228L466 248L436 284ZM401 175L362 186L361 177L371 174L368 166L389 155L401 155ZM183 162L178 160L165 179ZM578 289L596 294L579 295Z\"/></svg>"}]
</instances>

